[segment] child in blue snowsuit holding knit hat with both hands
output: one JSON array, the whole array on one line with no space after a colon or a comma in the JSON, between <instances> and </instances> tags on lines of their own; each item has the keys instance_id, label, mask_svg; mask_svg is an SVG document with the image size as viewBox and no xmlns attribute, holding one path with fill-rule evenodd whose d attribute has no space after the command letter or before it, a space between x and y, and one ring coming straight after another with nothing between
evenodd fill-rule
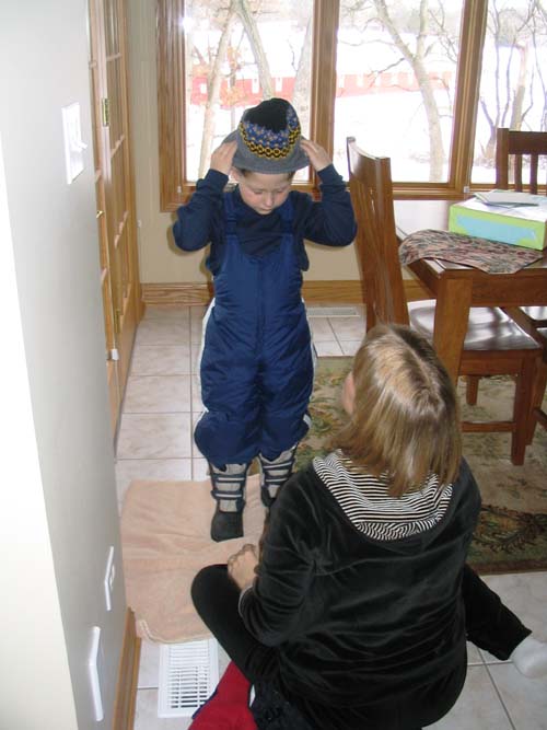
<instances>
[{"instance_id":1,"label":"child in blue snowsuit holding knit hat with both hands","mask_svg":"<svg viewBox=\"0 0 547 730\"><path fill-rule=\"evenodd\" d=\"M321 201L291 190L294 172L309 164L321 179ZM230 173L237 186L225 193ZM173 233L184 251L211 246L214 300L205 317L200 362L206 413L194 437L217 499L211 537L240 537L251 463L258 456L261 499L269 507L310 426L304 239L350 244L353 210L325 150L302 138L293 107L270 99L247 109L214 150L191 200L178 209Z\"/></svg>"}]
</instances>

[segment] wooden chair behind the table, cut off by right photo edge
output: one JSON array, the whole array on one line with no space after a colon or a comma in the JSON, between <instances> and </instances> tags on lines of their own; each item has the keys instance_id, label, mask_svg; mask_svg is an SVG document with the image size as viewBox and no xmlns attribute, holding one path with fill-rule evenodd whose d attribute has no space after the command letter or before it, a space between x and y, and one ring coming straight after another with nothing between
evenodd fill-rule
<instances>
[{"instance_id":1,"label":"wooden chair behind the table, cut off by right photo edge","mask_svg":"<svg viewBox=\"0 0 547 730\"><path fill-rule=\"evenodd\" d=\"M547 131L516 131L499 127L496 130L496 187L503 190L542 193L538 184L539 160L547 162ZM527 160L527 174L524 161ZM543 193L547 193L547 172ZM543 361L535 378L534 407L532 409L528 442L534 438L536 422L547 429L547 414L542 403L547 386L547 306L507 308L509 314L528 335L543 347Z\"/></svg>"}]
</instances>

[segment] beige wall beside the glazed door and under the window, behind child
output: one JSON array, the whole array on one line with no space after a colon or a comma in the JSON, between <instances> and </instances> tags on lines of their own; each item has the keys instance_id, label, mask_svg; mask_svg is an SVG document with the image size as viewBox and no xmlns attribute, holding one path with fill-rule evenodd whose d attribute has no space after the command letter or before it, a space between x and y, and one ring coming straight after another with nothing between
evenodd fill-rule
<instances>
[{"instance_id":1,"label":"beige wall beside the glazed door and under the window, behind child","mask_svg":"<svg viewBox=\"0 0 547 730\"><path fill-rule=\"evenodd\" d=\"M170 213L160 212L158 101L155 77L155 3L129 3L131 125L140 220L140 273L143 283L203 282L203 252L182 253L170 241ZM306 280L359 279L353 246L307 246Z\"/></svg>"}]
</instances>

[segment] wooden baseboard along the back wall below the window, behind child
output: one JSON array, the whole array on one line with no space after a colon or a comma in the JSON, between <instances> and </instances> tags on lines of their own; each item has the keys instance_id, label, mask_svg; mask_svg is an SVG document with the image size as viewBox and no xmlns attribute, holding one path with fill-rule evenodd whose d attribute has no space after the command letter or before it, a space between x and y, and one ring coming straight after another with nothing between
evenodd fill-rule
<instances>
[{"instance_id":1,"label":"wooden baseboard along the back wall below the window, behind child","mask_svg":"<svg viewBox=\"0 0 547 730\"><path fill-rule=\"evenodd\" d=\"M414 279L405 279L405 292L408 301L427 299L428 292ZM307 303L346 303L363 302L361 281L342 279L339 281L304 281L302 296ZM203 283L143 283L142 302L147 304L173 304L193 306L206 305L212 298L212 285Z\"/></svg>"}]
</instances>

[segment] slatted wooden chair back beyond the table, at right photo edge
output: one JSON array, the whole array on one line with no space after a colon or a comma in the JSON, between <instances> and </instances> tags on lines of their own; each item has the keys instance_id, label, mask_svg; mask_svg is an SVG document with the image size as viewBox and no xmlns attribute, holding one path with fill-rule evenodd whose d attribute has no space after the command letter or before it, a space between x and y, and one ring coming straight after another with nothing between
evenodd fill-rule
<instances>
[{"instance_id":1,"label":"slatted wooden chair back beyond the table, at right photo edge","mask_svg":"<svg viewBox=\"0 0 547 730\"><path fill-rule=\"evenodd\" d=\"M499 127L496 130L496 187L539 193L542 158L547 161L547 131L517 131ZM529 169L527 183L524 182L525 161ZM545 187L547 192L547 176Z\"/></svg>"}]
</instances>

